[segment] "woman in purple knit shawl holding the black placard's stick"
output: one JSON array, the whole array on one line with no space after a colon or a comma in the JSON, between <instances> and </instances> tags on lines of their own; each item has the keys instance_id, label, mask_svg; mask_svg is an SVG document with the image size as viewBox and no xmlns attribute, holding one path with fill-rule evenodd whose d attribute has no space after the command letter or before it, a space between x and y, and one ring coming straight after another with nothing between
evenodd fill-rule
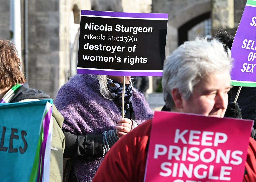
<instances>
[{"instance_id":1,"label":"woman in purple knit shawl holding the black placard's stick","mask_svg":"<svg viewBox=\"0 0 256 182\"><path fill-rule=\"evenodd\" d=\"M125 118L121 119L122 76L78 74L63 85L55 99L65 118L66 147L63 157L71 158L68 181L92 181L111 146L153 112L142 93L125 79ZM65 180L65 174L64 174Z\"/></svg>"}]
</instances>

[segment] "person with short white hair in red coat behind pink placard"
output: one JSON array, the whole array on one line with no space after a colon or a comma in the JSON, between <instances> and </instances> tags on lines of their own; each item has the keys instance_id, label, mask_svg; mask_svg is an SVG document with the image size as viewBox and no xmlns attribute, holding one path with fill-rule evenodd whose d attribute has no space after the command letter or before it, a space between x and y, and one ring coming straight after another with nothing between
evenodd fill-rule
<instances>
[{"instance_id":1,"label":"person with short white hair in red coat behind pink placard","mask_svg":"<svg viewBox=\"0 0 256 182\"><path fill-rule=\"evenodd\" d=\"M165 61L165 103L176 112L224 117L231 67L231 52L219 40L185 42ZM151 126L149 120L117 142L93 181L143 182Z\"/></svg>"}]
</instances>

